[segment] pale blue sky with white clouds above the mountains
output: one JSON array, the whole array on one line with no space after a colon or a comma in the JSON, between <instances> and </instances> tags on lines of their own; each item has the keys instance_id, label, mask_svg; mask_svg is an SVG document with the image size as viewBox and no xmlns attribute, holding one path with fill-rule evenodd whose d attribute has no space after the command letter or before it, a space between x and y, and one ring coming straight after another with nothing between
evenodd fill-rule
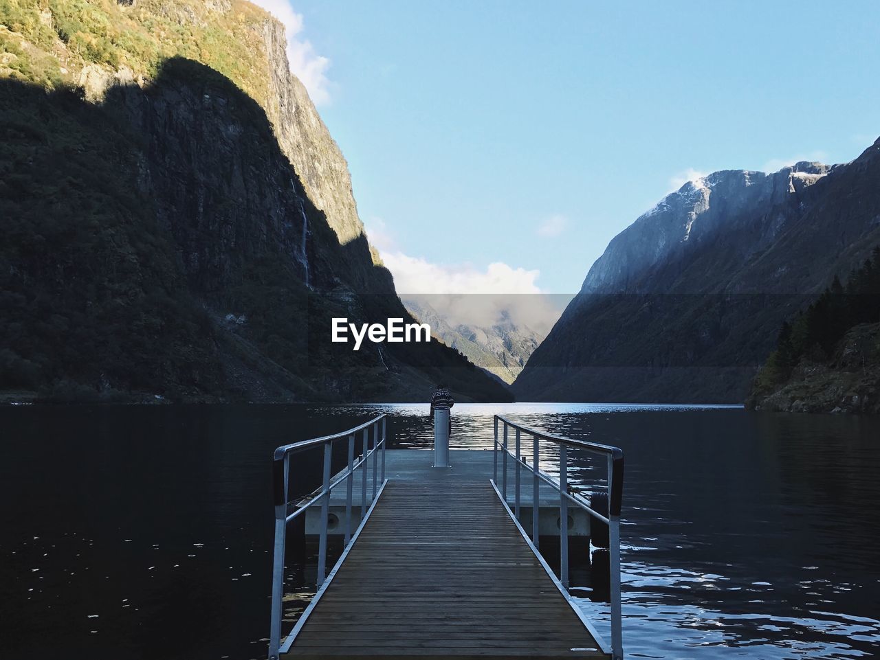
<instances>
[{"instance_id":1,"label":"pale blue sky with white clouds above the mountains","mask_svg":"<svg viewBox=\"0 0 880 660\"><path fill-rule=\"evenodd\" d=\"M876 2L292 8L292 68L403 288L575 293L688 178L880 134Z\"/></svg>"}]
</instances>

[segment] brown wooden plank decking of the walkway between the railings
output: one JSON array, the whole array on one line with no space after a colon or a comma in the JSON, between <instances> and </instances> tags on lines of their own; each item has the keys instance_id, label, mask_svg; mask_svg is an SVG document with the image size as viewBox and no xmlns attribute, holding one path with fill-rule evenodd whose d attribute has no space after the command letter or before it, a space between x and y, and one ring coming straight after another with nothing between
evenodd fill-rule
<instances>
[{"instance_id":1,"label":"brown wooden plank decking of the walkway between the railings","mask_svg":"<svg viewBox=\"0 0 880 660\"><path fill-rule=\"evenodd\" d=\"M489 475L454 465L427 468L419 480L390 475L283 657L608 657Z\"/></svg>"}]
</instances>

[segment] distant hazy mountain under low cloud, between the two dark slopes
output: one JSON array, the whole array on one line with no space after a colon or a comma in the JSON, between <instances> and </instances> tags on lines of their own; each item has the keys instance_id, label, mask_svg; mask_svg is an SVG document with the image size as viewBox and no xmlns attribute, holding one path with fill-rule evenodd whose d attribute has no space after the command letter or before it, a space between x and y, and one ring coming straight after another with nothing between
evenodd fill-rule
<instances>
[{"instance_id":1,"label":"distant hazy mountain under low cloud, between the two dark slopes","mask_svg":"<svg viewBox=\"0 0 880 660\"><path fill-rule=\"evenodd\" d=\"M462 353L474 365L494 374L510 385L544 336L522 323L514 323L502 310L495 323L449 323L429 302L431 296L403 295L404 306L414 317L429 323L431 331L445 345Z\"/></svg>"}]
</instances>

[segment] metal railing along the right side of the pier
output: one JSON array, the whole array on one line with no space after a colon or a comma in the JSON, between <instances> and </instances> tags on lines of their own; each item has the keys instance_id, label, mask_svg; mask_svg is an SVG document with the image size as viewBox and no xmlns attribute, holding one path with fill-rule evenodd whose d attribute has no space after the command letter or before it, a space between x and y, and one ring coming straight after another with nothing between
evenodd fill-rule
<instances>
[{"instance_id":1,"label":"metal railing along the right side of the pier","mask_svg":"<svg viewBox=\"0 0 880 660\"><path fill-rule=\"evenodd\" d=\"M502 440L498 439L498 423L502 423ZM514 430L514 452L508 445L508 429ZM521 435L532 436L532 465L529 465L520 454ZM559 481L542 472L540 469L539 441L546 440L559 446ZM568 448L579 448L584 451L606 457L608 469L608 515L594 511L590 502L568 488ZM541 482L549 484L560 494L559 498L559 538L560 538L560 576L561 587L568 593L568 504L575 504L595 519L608 526L608 555L610 562L610 596L611 596L611 652L614 660L623 657L623 640L620 614L620 505L623 501L623 452L614 446L598 445L585 440L575 440L550 435L537 431L509 419L495 415L495 444L493 446L494 483L498 484L498 454L502 455L501 496L507 505L508 456L515 461L514 470L514 509L513 514L519 520L519 500L522 486L520 475L523 468L532 472L532 545L537 551L539 547L539 486ZM525 532L524 532L525 533Z\"/></svg>"}]
</instances>

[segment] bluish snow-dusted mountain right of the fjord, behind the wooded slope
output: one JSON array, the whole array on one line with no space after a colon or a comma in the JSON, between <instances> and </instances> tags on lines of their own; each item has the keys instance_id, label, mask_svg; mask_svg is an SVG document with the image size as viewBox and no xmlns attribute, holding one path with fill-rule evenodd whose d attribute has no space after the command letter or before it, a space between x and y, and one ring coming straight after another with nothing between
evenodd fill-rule
<instances>
[{"instance_id":1,"label":"bluish snow-dusted mountain right of the fjord, behind the wooded slope","mask_svg":"<svg viewBox=\"0 0 880 660\"><path fill-rule=\"evenodd\" d=\"M878 183L880 141L846 165L688 182L612 239L517 398L742 402L781 321L880 241Z\"/></svg>"}]
</instances>

